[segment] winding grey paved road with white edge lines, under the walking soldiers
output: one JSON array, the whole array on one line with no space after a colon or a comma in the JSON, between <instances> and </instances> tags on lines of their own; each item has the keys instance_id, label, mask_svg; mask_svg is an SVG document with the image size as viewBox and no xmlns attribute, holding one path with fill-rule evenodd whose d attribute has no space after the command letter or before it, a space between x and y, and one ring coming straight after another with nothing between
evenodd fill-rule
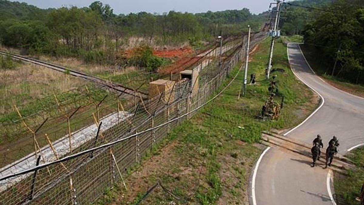
<instances>
[{"instance_id":1,"label":"winding grey paved road with white edge lines, under the walking soldiers","mask_svg":"<svg viewBox=\"0 0 364 205\"><path fill-rule=\"evenodd\" d=\"M287 47L293 72L320 94L320 104L323 104L308 120L286 136L312 144L316 135L320 134L324 143L321 151L324 151L329 140L336 135L340 142L339 154L345 154L349 148L363 144L364 99L336 89L316 76L306 63L298 44L290 43ZM328 174L330 168L323 169L325 162L322 158L316 167L310 167L311 162L310 158L270 148L258 165L253 189L256 203L252 204L335 204L329 193L334 191L329 178L332 176L331 171Z\"/></svg>"}]
</instances>

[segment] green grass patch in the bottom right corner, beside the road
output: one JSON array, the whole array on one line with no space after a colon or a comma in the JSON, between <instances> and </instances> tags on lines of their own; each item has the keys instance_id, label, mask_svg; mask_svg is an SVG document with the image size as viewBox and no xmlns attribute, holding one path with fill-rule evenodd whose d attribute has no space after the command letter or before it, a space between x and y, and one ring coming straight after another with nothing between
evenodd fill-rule
<instances>
[{"instance_id":1,"label":"green grass patch in the bottom right corner, beside the road","mask_svg":"<svg viewBox=\"0 0 364 205\"><path fill-rule=\"evenodd\" d=\"M334 186L339 205L359 205L355 198L360 196L364 179L364 147L360 147L347 155L356 168L348 171L348 175L335 174Z\"/></svg>"}]
</instances>

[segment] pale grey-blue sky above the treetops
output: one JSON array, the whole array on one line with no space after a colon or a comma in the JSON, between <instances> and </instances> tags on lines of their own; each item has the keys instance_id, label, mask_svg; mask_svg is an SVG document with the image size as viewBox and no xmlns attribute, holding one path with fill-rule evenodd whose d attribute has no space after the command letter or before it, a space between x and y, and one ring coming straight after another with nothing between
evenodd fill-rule
<instances>
[{"instance_id":1,"label":"pale grey-blue sky above the treetops","mask_svg":"<svg viewBox=\"0 0 364 205\"><path fill-rule=\"evenodd\" d=\"M14 0L11 0L14 1ZM39 8L59 8L62 6L88 7L95 0L17 0ZM269 9L272 0L100 0L109 4L115 14L146 11L150 13L181 12L199 13L223 11L227 9L249 8L252 13L261 13Z\"/></svg>"}]
</instances>

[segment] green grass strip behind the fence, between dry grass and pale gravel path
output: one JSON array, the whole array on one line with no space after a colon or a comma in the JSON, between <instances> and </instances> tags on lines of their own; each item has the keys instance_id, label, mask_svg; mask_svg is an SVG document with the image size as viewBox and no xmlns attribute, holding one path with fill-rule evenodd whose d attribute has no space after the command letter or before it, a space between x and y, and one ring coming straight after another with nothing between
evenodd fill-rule
<instances>
[{"instance_id":1,"label":"green grass strip behind the fence, between dry grass and pale gravel path","mask_svg":"<svg viewBox=\"0 0 364 205\"><path fill-rule=\"evenodd\" d=\"M94 123L92 113L96 113L96 107L92 104L92 101L100 101L106 93L100 88L91 86L89 87L89 90L92 98L82 95L85 93L80 92L80 90L57 94L56 96L59 102L70 100L65 104L61 104L60 109L57 108L53 95L37 99L29 104L23 105L23 107L19 106L20 113L23 116L37 113L44 108L54 106L53 109L47 110L46 112L40 112L24 120L31 129L35 130L46 117L49 117L48 121L39 129L36 135L40 147L47 145L44 134L47 134L52 142L68 134L67 120L63 115L65 113L70 115L70 113L75 111L79 106L84 107L76 112L71 118L71 132ZM115 99L114 95L109 94L106 100L100 105L100 117L116 111ZM123 100L121 100L121 102L124 103ZM19 119L20 118L14 109L11 109L7 115L0 116L0 124L4 125L4 127L0 129L0 156L4 156L0 158L0 166L5 166L34 151L32 135ZM18 120L17 123L7 124L9 121L14 120ZM9 149L9 147L11 147L11 149Z\"/></svg>"}]
</instances>

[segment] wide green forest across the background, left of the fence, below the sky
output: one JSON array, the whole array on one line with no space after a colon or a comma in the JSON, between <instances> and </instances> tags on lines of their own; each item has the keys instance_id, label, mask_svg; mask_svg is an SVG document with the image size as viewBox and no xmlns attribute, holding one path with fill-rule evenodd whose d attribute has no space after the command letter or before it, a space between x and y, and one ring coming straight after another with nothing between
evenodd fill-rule
<instances>
[{"instance_id":1,"label":"wide green forest across the background, left of the fence, below the sky","mask_svg":"<svg viewBox=\"0 0 364 205\"><path fill-rule=\"evenodd\" d=\"M206 13L115 14L108 4L40 9L0 0L0 43L28 54L78 57L86 63L124 63L121 50L131 38L147 46L200 47L220 35L236 35L250 24L259 30L266 16L249 9Z\"/></svg>"}]
</instances>

